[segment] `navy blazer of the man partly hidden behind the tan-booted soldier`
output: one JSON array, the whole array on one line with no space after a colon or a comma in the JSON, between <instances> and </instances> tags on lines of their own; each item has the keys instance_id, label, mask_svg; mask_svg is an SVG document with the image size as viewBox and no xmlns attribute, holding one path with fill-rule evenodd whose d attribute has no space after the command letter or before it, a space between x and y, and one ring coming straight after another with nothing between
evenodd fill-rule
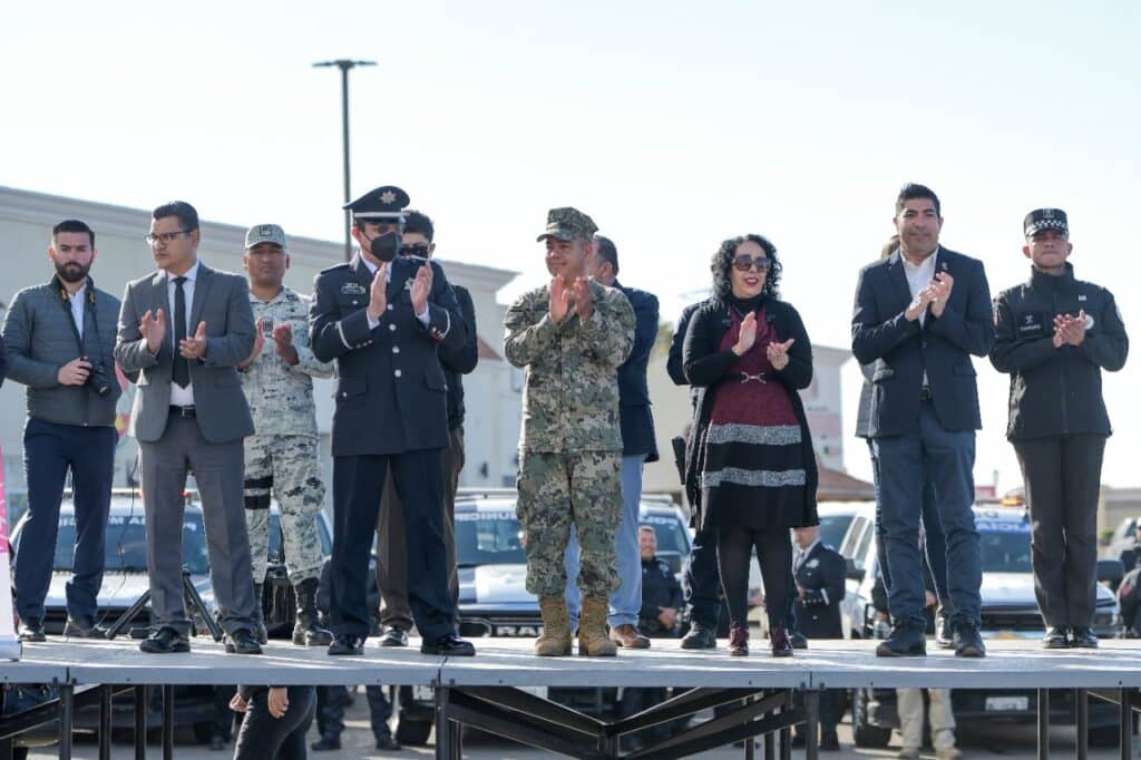
<instances>
[{"instance_id":1,"label":"navy blazer of the man partly hidden behind the tan-booted soldier","mask_svg":"<svg viewBox=\"0 0 1141 760\"><path fill-rule=\"evenodd\" d=\"M622 455L646 454L647 462L656 462L657 440L654 437L654 415L650 412L646 371L649 354L657 339L657 296L637 288L626 288L614 281L634 309L634 345L630 356L618 366L618 420L622 425Z\"/></svg>"}]
</instances>

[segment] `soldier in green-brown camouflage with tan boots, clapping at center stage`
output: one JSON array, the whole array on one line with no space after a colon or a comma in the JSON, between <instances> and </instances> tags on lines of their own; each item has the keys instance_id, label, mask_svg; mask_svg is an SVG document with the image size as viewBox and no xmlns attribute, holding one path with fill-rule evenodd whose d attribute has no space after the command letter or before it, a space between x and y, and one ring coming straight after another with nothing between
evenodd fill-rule
<instances>
[{"instance_id":1,"label":"soldier in green-brown camouflage with tan boots, clapping at center stage","mask_svg":"<svg viewBox=\"0 0 1141 760\"><path fill-rule=\"evenodd\" d=\"M551 282L524 293L504 318L504 354L526 367L519 437L519 520L527 591L539 597L535 654L570 654L564 555L572 525L582 550L578 653L613 656L608 597L618 585L614 532L622 509L617 370L633 346L634 313L621 291L585 276L598 227L582 211L547 217Z\"/></svg>"}]
</instances>

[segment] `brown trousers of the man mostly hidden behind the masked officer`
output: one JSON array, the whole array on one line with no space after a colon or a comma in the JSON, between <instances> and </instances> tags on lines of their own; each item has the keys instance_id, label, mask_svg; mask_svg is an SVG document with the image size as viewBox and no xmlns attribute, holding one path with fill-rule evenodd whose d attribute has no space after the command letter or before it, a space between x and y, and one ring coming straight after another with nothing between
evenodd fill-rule
<instances>
[{"instance_id":1,"label":"brown trousers of the man mostly hidden behind the masked officer","mask_svg":"<svg viewBox=\"0 0 1141 760\"><path fill-rule=\"evenodd\" d=\"M447 588L452 600L460 598L460 579L455 571L455 492L463 469L463 426L450 432L447 448L440 452L444 478L444 543L447 547ZM380 587L380 624L402 630L412 629L408 607L408 556L404 547L404 504L393 486L393 474L385 478L377 518L377 585ZM459 612L456 612L459 614Z\"/></svg>"}]
</instances>

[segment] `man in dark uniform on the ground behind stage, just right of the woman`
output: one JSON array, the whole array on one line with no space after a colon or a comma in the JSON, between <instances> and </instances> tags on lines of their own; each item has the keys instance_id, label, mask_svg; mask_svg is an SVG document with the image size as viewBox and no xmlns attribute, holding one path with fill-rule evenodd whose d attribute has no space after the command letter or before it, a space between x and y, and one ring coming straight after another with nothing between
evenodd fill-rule
<instances>
[{"instance_id":1,"label":"man in dark uniform on the ground behind stage, just right of the woman","mask_svg":"<svg viewBox=\"0 0 1141 760\"><path fill-rule=\"evenodd\" d=\"M835 549L820 543L820 527L793 528L792 560L793 577L796 581L796 621L800 632L815 639L842 639L844 630L840 623L840 603L844 598L844 558ZM820 694L820 749L840 749L836 725L841 715L841 693L825 689ZM796 727L793 745L803 741L802 727Z\"/></svg>"}]
</instances>

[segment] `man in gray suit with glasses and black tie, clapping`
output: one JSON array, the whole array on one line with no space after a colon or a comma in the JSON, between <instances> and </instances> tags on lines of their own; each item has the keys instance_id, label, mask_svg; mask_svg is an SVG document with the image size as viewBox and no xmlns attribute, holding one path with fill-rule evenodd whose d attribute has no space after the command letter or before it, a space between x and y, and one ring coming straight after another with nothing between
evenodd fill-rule
<instances>
[{"instance_id":1,"label":"man in gray suit with glasses and black tie, clapping","mask_svg":"<svg viewBox=\"0 0 1141 760\"><path fill-rule=\"evenodd\" d=\"M193 471L226 650L260 654L242 493L242 439L253 421L235 369L253 349L253 312L242 277L199 261L194 207L175 201L152 216L146 240L159 272L128 283L115 343L115 359L138 383L130 434L139 443L156 622L139 648L191 648L181 558L183 490Z\"/></svg>"}]
</instances>

